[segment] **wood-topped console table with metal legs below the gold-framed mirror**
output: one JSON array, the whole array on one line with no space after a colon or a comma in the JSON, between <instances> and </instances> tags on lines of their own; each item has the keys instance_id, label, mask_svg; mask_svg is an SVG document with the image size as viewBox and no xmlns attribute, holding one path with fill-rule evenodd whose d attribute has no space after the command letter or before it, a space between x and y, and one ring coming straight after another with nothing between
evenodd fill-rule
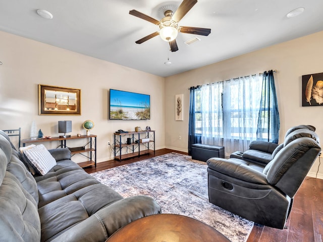
<instances>
[{"instance_id":1,"label":"wood-topped console table with metal legs below the gold-framed mirror","mask_svg":"<svg viewBox=\"0 0 323 242\"><path fill-rule=\"evenodd\" d=\"M76 140L76 139L88 139L87 143L82 147L71 148L66 145L66 141ZM81 136L71 136L68 138L52 137L51 139L25 139L22 140L22 145L25 147L29 143L43 143L60 141L60 145L57 148L69 148L71 150L72 156L75 154L80 154L88 158L86 162L78 163L81 167L88 167L94 165L96 167L96 135L81 135ZM88 146L88 147L86 147ZM83 153L89 152L90 155L87 156Z\"/></svg>"}]
</instances>

